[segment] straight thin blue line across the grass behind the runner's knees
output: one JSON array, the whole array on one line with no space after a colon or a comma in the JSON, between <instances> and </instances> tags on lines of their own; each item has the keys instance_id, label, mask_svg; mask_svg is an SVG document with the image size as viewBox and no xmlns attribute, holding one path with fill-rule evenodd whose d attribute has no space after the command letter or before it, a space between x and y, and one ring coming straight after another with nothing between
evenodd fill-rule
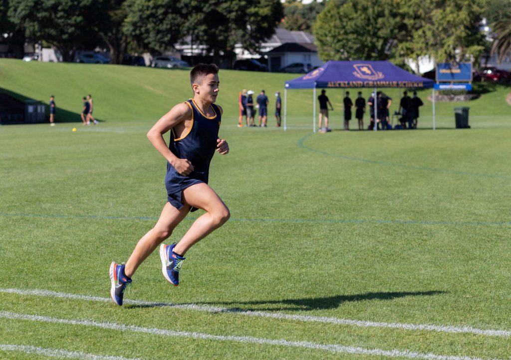
<instances>
[{"instance_id":1,"label":"straight thin blue line across the grass behind the runner's knees","mask_svg":"<svg viewBox=\"0 0 511 360\"><path fill-rule=\"evenodd\" d=\"M85 219L85 220L158 220L153 216L102 216L102 215L53 215L53 214L0 214L1 217L33 217L51 219ZM196 217L187 216L184 220L194 221ZM424 220L386 220L386 219L265 219L265 218L230 218L229 221L246 222L280 222L280 223L374 223L374 224L409 224L409 225L464 225L464 226L511 226L511 221L424 221Z\"/></svg>"}]
</instances>

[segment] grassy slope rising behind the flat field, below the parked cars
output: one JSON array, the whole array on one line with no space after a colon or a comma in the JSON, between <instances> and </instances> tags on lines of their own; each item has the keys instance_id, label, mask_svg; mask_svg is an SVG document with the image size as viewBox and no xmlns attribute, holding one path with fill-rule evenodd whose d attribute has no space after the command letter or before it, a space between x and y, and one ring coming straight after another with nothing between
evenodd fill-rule
<instances>
[{"instance_id":1,"label":"grassy slope rising behind the flat field, below the parked cars","mask_svg":"<svg viewBox=\"0 0 511 360\"><path fill-rule=\"evenodd\" d=\"M21 96L48 101L56 96L58 108L80 113L82 97L92 94L96 114L100 118L120 121L151 120L159 118L177 102L191 96L188 70L164 70L130 66L95 64L57 64L0 60L0 88ZM284 93L284 82L295 78L294 74L267 74L239 71L221 71L221 99L225 117L233 122L238 118L237 99L242 88L254 90L257 95L265 89L274 106L273 93ZM453 108L469 106L470 123L475 127L501 126L511 118L511 107L506 106L505 96L511 87L492 84L475 84L484 92L475 101L463 103L437 103L437 126L454 127ZM384 89L394 99L391 113L399 107L399 90ZM357 90L351 89L352 98ZM370 89L363 89L367 98ZM288 97L290 125L309 126L312 119L312 90L292 90ZM334 125L342 124L342 89L330 89L327 93L336 111L332 114ZM419 92L425 102L421 108L421 124L431 127L432 106L426 101L430 90ZM491 114L489 118L487 115ZM353 122L353 124L355 124ZM354 126L354 125L352 125Z\"/></svg>"}]
</instances>

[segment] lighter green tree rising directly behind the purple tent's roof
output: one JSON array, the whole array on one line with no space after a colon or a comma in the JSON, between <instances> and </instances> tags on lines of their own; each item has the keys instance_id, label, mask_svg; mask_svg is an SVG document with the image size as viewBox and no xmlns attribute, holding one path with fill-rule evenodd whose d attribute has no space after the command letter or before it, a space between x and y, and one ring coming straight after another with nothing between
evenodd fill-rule
<instances>
[{"instance_id":1,"label":"lighter green tree rising directly behind the purple tent's roof","mask_svg":"<svg viewBox=\"0 0 511 360\"><path fill-rule=\"evenodd\" d=\"M401 0L330 0L318 15L314 36L327 60L387 60L403 36Z\"/></svg>"}]
</instances>

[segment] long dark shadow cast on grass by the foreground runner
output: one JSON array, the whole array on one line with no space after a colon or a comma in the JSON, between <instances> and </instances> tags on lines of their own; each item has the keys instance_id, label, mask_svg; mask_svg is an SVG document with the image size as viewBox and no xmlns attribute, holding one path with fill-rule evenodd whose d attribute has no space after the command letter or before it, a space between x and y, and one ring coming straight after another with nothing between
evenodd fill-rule
<instances>
[{"instance_id":1,"label":"long dark shadow cast on grass by the foreground runner","mask_svg":"<svg viewBox=\"0 0 511 360\"><path fill-rule=\"evenodd\" d=\"M309 311L334 309L345 302L355 301L371 301L371 300L392 300L404 298L408 296L434 296L447 294L447 291L382 291L382 292L366 292L365 294L355 295L335 295L322 298L301 298L301 299L284 299L284 300L258 300L258 301L214 301L214 302L197 302L194 304L127 304L127 308L146 308L146 307L162 307L162 306L187 306L187 305L207 305L207 306L229 306L237 305L240 307L229 307L228 311Z\"/></svg>"}]
</instances>

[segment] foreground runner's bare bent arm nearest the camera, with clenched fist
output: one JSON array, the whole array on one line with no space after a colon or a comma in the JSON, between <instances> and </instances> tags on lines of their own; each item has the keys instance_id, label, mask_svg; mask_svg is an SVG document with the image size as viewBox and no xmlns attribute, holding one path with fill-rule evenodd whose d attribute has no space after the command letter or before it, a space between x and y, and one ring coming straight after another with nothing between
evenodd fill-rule
<instances>
[{"instance_id":1,"label":"foreground runner's bare bent arm nearest the camera, with clenched fist","mask_svg":"<svg viewBox=\"0 0 511 360\"><path fill-rule=\"evenodd\" d=\"M177 104L167 114L161 117L148 131L147 138L158 152L172 165L180 175L188 175L193 171L193 165L187 159L179 159L170 151L163 134L177 124L191 119L192 110L185 103Z\"/></svg>"}]
</instances>

